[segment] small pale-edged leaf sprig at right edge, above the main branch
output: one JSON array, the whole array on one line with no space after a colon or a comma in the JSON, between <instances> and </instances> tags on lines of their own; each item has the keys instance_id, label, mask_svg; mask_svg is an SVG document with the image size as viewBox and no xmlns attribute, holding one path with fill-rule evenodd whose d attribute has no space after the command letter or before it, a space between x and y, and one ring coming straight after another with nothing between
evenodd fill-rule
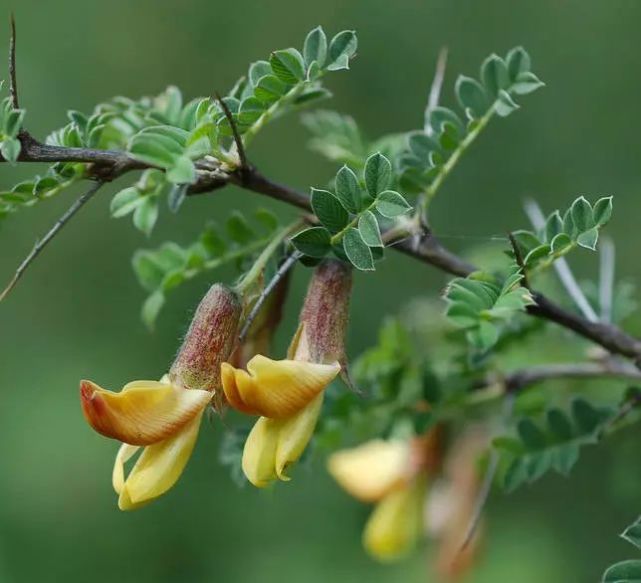
<instances>
[{"instance_id":1,"label":"small pale-edged leaf sprig at right edge, above the main branch","mask_svg":"<svg viewBox=\"0 0 641 583\"><path fill-rule=\"evenodd\" d=\"M593 205L580 196L563 216L558 210L551 213L540 231L515 231L526 269L544 269L577 246L595 250L599 231L611 216L611 196L602 197Z\"/></svg>"}]
</instances>

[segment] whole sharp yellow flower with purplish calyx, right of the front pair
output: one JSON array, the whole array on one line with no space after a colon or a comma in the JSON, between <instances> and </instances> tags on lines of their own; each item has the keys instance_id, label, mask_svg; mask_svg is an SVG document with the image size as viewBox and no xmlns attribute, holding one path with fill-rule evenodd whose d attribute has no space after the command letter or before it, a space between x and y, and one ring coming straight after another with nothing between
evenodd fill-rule
<instances>
[{"instance_id":1,"label":"whole sharp yellow flower with purplish calyx, right of the front pair","mask_svg":"<svg viewBox=\"0 0 641 583\"><path fill-rule=\"evenodd\" d=\"M222 366L229 404L260 415L243 450L247 479L259 488L289 480L287 469L304 452L323 404L323 390L341 372L351 292L351 271L339 261L316 268L286 360L262 355L247 371Z\"/></svg>"}]
</instances>

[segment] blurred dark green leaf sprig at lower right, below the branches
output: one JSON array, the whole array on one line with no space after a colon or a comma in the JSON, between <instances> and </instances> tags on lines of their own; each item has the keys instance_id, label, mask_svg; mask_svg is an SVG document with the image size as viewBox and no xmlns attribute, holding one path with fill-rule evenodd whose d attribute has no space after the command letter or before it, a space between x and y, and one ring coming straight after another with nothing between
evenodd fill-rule
<instances>
[{"instance_id":1,"label":"blurred dark green leaf sprig at lower right, below the branches","mask_svg":"<svg viewBox=\"0 0 641 583\"><path fill-rule=\"evenodd\" d=\"M577 398L572 401L570 414L551 408L545 413L545 423L522 418L515 437L499 437L493 443L505 466L503 488L512 492L550 470L568 475L579 459L581 447L598 441L612 415L609 408L597 408Z\"/></svg>"}]
</instances>

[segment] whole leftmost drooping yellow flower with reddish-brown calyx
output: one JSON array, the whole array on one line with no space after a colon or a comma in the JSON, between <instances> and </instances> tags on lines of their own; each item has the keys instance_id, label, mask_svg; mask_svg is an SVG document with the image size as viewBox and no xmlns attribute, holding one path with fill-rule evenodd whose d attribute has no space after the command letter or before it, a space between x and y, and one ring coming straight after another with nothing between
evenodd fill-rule
<instances>
[{"instance_id":1,"label":"whole leftmost drooping yellow flower with reddish-brown calyx","mask_svg":"<svg viewBox=\"0 0 641 583\"><path fill-rule=\"evenodd\" d=\"M198 306L169 374L160 381L135 381L118 393L91 381L80 383L88 423L122 442L112 475L121 510L147 504L180 478L203 413L220 391L220 364L233 349L240 313L235 292L214 285ZM125 463L141 447L125 476Z\"/></svg>"}]
</instances>

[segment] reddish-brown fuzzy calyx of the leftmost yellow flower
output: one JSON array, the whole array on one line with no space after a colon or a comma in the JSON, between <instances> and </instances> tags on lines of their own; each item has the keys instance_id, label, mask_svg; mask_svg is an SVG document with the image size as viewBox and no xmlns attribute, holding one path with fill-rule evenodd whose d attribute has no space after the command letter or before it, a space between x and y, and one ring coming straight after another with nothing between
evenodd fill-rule
<instances>
[{"instance_id":1,"label":"reddish-brown fuzzy calyx of the leftmost yellow flower","mask_svg":"<svg viewBox=\"0 0 641 583\"><path fill-rule=\"evenodd\" d=\"M220 365L236 342L242 306L238 295L216 283L202 299L178 356L171 366L171 382L186 389L218 391Z\"/></svg>"}]
</instances>

